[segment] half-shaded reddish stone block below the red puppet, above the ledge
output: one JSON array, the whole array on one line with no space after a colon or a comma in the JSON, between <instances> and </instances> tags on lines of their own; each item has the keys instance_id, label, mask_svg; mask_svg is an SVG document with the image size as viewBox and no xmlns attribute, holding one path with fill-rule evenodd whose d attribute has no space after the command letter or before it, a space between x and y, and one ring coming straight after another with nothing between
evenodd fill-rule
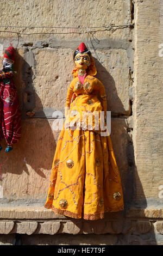
<instances>
[{"instance_id":1,"label":"half-shaded reddish stone block below the red puppet, above the ledge","mask_svg":"<svg viewBox=\"0 0 163 256\"><path fill-rule=\"evenodd\" d=\"M56 146L52 123L53 120L47 119L23 120L22 137L9 155L4 152L3 141L0 161L4 164L1 168L4 198L46 200Z\"/></svg>"}]
</instances>

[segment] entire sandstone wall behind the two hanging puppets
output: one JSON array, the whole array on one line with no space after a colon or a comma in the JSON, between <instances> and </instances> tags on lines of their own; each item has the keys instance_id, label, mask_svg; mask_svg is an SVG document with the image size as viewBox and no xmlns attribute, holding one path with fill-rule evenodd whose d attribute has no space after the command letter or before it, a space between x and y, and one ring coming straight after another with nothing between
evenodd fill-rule
<instances>
[{"instance_id":1,"label":"entire sandstone wall behind the two hanging puppets","mask_svg":"<svg viewBox=\"0 0 163 256\"><path fill-rule=\"evenodd\" d=\"M16 26L1 28L0 43L5 48L11 40L17 49L22 138L8 155L0 153L2 244L13 244L15 233L22 234L24 245L54 240L59 245L62 239L71 245L72 234L74 244L162 243L160 10L161 0L3 1L1 24ZM130 23L134 26L106 28ZM43 208L60 132L54 130L53 113L64 114L72 53L82 41L106 89L125 203L123 212L95 222Z\"/></svg>"}]
</instances>

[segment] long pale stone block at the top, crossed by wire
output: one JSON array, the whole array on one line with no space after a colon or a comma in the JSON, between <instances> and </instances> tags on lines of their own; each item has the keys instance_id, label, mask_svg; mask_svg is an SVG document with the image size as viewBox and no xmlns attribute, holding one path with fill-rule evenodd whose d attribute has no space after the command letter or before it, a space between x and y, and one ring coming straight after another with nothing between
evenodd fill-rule
<instances>
[{"instance_id":1,"label":"long pale stone block at the top, crossed by wire","mask_svg":"<svg viewBox=\"0 0 163 256\"><path fill-rule=\"evenodd\" d=\"M89 7L89 8L88 8ZM85 11L87 10L87 11ZM126 25L130 23L130 0L121 1L59 1L55 4L48 0L32 2L20 2L11 0L10 10L8 4L3 3L1 23L7 25L8 19L12 20L14 26L30 26L45 28L12 28L12 36L17 38L20 32L21 37L30 42L31 39L42 38L45 40L49 34L59 39L85 39L87 31L97 31L97 38L128 38L129 28L112 30L107 28L89 29L89 27L101 27L109 25ZM52 28L47 28L52 27ZM60 28L53 28L60 27ZM65 28L62 28L65 27ZM67 29L66 27L70 27ZM79 29L83 27L85 29ZM10 32L9 28L4 28ZM2 33L1 37L7 38L9 33Z\"/></svg>"}]
</instances>

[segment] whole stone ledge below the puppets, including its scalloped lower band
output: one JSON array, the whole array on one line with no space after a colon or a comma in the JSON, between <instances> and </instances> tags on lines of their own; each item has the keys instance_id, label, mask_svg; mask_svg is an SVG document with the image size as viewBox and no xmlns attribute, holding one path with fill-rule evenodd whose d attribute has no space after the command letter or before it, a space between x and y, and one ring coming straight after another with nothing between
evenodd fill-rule
<instances>
[{"instance_id":1,"label":"whole stone ledge below the puppets, including its scalloped lower band","mask_svg":"<svg viewBox=\"0 0 163 256\"><path fill-rule=\"evenodd\" d=\"M163 234L162 209L136 209L107 214L103 220L76 220L52 210L0 208L0 234Z\"/></svg>"}]
</instances>

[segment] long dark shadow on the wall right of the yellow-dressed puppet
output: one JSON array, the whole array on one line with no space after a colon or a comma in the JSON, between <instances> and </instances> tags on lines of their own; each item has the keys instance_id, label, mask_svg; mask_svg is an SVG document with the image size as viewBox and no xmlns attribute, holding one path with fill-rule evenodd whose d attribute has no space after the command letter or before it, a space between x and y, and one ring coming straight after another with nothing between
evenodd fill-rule
<instances>
[{"instance_id":1,"label":"long dark shadow on the wall right of the yellow-dressed puppet","mask_svg":"<svg viewBox=\"0 0 163 256\"><path fill-rule=\"evenodd\" d=\"M127 119L123 117L123 115L127 114L126 109L124 109L123 103L118 96L114 78L96 58L94 59L97 67L96 77L104 84L108 103L107 110L111 111L111 117L113 117L111 119L110 137L121 174L124 210L137 205L136 187L139 187L142 195L139 203L141 203L142 208L146 208L147 201L135 165L134 146L130 136L130 127ZM115 103L113 101L115 101ZM119 113L117 109L120 109ZM118 117L118 114L121 114L121 117ZM139 184L136 184L136 186L135 181L139 181Z\"/></svg>"}]
</instances>

